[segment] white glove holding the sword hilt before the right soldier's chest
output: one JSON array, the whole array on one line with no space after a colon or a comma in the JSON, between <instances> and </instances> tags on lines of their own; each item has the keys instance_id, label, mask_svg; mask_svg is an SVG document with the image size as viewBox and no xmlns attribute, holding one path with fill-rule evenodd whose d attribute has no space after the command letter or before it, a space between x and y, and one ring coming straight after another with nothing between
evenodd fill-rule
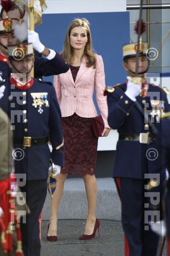
<instances>
[{"instance_id":1,"label":"white glove holding the sword hilt before the right soldier's chest","mask_svg":"<svg viewBox=\"0 0 170 256\"><path fill-rule=\"evenodd\" d=\"M141 91L141 83L135 84L132 82L131 77L127 76L128 83L125 94L133 101L136 101L136 97L140 94Z\"/></svg>"}]
</instances>

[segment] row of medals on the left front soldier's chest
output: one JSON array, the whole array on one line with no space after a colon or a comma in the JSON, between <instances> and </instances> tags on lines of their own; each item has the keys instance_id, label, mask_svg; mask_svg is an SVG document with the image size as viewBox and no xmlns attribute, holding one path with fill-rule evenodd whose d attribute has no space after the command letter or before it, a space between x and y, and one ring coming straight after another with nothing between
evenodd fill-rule
<instances>
[{"instance_id":1,"label":"row of medals on the left front soldier's chest","mask_svg":"<svg viewBox=\"0 0 170 256\"><path fill-rule=\"evenodd\" d=\"M47 100L48 93L31 93L31 97L33 98L33 106L35 109L38 109L38 113L42 114L43 109L42 106L45 105L46 107L49 106L48 100Z\"/></svg>"}]
</instances>

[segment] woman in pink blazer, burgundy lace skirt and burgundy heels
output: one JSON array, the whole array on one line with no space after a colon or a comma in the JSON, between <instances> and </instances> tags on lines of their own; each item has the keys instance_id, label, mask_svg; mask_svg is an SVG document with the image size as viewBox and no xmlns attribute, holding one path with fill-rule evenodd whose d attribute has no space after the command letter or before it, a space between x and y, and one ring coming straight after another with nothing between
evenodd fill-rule
<instances>
[{"instance_id":1,"label":"woman in pink blazer, burgundy lace skirt and burgundy heels","mask_svg":"<svg viewBox=\"0 0 170 256\"><path fill-rule=\"evenodd\" d=\"M95 237L100 222L95 217L97 183L94 176L98 138L93 131L93 118L98 116L96 100L104 120L102 136L107 136L108 108L105 90L104 63L100 55L92 51L89 23L85 18L76 18L68 26L61 55L69 62L70 69L54 77L57 98L62 113L65 145L65 164L57 176L57 187L52 199L50 225L47 240L57 241L57 210L67 174L81 174L84 179L88 214L85 231L80 240Z\"/></svg>"}]
</instances>

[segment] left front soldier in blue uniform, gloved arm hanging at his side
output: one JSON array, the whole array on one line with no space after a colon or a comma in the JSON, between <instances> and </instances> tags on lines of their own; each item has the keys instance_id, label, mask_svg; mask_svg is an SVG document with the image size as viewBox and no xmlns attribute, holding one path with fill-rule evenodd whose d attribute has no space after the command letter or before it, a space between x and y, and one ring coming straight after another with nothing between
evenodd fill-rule
<instances>
[{"instance_id":1,"label":"left front soldier in blue uniform, gloved arm hanging at his side","mask_svg":"<svg viewBox=\"0 0 170 256\"><path fill-rule=\"evenodd\" d=\"M18 55L13 56L14 50ZM10 46L8 54L12 75L5 83L1 82L6 87L1 106L11 119L15 174L31 211L26 223L24 219L21 221L23 251L25 256L38 256L38 218L46 197L49 160L52 157L56 172L60 172L64 161L61 112L53 85L30 76L34 63L32 44Z\"/></svg>"}]
</instances>

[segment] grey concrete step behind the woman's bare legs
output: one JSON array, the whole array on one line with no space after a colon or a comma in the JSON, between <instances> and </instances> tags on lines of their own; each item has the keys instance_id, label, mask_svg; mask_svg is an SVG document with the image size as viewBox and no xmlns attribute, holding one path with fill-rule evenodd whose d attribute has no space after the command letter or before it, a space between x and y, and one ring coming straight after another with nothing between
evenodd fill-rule
<instances>
[{"instance_id":1,"label":"grey concrete step behind the woman's bare legs","mask_svg":"<svg viewBox=\"0 0 170 256\"><path fill-rule=\"evenodd\" d=\"M121 207L112 178L98 178L96 216L99 219L120 221ZM47 194L43 207L43 220L49 220L51 198ZM87 199L82 178L66 179L58 219L86 219Z\"/></svg>"}]
</instances>

